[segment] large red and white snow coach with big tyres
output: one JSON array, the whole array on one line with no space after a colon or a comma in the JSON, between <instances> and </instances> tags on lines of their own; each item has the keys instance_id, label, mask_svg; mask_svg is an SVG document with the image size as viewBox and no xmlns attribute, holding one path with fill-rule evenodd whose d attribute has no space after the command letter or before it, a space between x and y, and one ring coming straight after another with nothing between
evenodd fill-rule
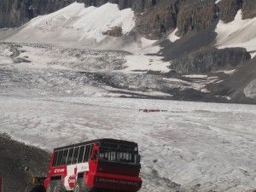
<instances>
[{"instance_id":1,"label":"large red and white snow coach with big tyres","mask_svg":"<svg viewBox=\"0 0 256 192\"><path fill-rule=\"evenodd\" d=\"M48 176L32 178L27 192L131 191L141 189L137 143L98 139L55 148Z\"/></svg>"}]
</instances>

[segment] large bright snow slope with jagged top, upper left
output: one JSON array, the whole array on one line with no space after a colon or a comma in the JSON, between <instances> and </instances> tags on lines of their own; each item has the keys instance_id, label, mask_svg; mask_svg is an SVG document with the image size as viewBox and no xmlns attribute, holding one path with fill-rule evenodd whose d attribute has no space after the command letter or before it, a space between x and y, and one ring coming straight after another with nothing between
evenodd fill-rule
<instances>
[{"instance_id":1,"label":"large bright snow slope with jagged top, upper left","mask_svg":"<svg viewBox=\"0 0 256 192\"><path fill-rule=\"evenodd\" d=\"M123 34L135 26L131 9L119 10L117 4L106 3L99 8L84 7L84 3L73 3L49 15L42 15L29 21L20 32L9 40L23 42L101 42L106 32L120 26Z\"/></svg>"}]
</instances>

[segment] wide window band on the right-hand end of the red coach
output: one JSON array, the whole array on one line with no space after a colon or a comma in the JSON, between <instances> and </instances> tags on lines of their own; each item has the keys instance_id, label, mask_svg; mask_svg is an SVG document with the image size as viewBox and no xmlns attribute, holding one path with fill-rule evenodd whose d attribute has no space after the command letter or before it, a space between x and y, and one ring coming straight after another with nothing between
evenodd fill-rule
<instances>
[{"instance_id":1,"label":"wide window band on the right-hand end of the red coach","mask_svg":"<svg viewBox=\"0 0 256 192\"><path fill-rule=\"evenodd\" d=\"M139 164L138 154L131 153L128 151L100 151L100 160L113 161L119 163L130 163L130 164Z\"/></svg>"}]
</instances>

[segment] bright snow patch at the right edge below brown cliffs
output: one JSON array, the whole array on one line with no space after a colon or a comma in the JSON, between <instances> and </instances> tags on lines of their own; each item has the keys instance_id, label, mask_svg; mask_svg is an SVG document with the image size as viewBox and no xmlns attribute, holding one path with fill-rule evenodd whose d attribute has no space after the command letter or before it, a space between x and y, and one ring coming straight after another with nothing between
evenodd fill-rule
<instances>
[{"instance_id":1,"label":"bright snow patch at the right edge below brown cliffs","mask_svg":"<svg viewBox=\"0 0 256 192\"><path fill-rule=\"evenodd\" d=\"M235 20L229 23L219 20L215 32L218 33L218 49L243 47L252 57L256 55L256 17L242 20L242 13L239 10Z\"/></svg>"}]
</instances>

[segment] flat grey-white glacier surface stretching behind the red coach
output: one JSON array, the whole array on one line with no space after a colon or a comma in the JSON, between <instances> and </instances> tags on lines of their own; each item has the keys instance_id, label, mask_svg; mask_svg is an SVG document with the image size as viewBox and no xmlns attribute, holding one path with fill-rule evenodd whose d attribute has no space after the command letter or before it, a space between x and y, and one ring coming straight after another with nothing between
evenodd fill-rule
<instances>
[{"instance_id":1,"label":"flat grey-white glacier surface stretching behind the red coach","mask_svg":"<svg viewBox=\"0 0 256 192\"><path fill-rule=\"evenodd\" d=\"M1 96L0 105L0 131L49 151L101 137L139 143L141 191L244 192L256 188L254 106L12 96ZM142 113L140 108L168 112Z\"/></svg>"}]
</instances>

